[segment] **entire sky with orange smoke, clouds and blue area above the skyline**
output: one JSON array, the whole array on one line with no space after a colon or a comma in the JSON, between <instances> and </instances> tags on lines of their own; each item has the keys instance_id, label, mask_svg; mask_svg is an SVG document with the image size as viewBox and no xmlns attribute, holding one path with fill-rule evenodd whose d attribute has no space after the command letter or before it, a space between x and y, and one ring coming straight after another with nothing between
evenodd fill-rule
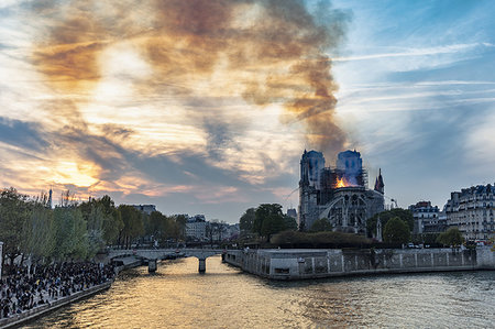
<instances>
[{"instance_id":1,"label":"entire sky with orange smoke, clouds and blue area above the skyline","mask_svg":"<svg viewBox=\"0 0 495 329\"><path fill-rule=\"evenodd\" d=\"M238 222L297 207L305 149L355 149L442 207L495 182L494 7L1 0L0 187Z\"/></svg>"}]
</instances>

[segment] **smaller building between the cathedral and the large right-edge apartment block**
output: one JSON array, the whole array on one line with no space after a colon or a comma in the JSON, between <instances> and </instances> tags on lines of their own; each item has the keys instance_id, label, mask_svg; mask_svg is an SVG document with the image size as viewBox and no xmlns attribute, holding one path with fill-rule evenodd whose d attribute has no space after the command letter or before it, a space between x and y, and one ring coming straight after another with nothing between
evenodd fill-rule
<instances>
[{"instance_id":1,"label":"smaller building between the cathedral and the large right-edge apartment block","mask_svg":"<svg viewBox=\"0 0 495 329\"><path fill-rule=\"evenodd\" d=\"M440 218L440 210L437 206L431 206L431 201L419 201L409 206L413 212L415 226L414 234L438 233L447 229L447 217Z\"/></svg>"}]
</instances>

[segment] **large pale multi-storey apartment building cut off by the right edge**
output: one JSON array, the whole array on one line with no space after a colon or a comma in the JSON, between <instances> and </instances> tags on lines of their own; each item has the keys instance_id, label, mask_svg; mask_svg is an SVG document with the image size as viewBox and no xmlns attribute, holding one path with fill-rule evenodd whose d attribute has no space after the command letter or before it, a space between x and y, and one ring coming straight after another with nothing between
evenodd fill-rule
<instances>
[{"instance_id":1,"label":"large pale multi-storey apartment building cut off by the right edge","mask_svg":"<svg viewBox=\"0 0 495 329\"><path fill-rule=\"evenodd\" d=\"M494 191L488 184L451 193L446 205L448 226L459 228L466 240L495 238Z\"/></svg>"}]
</instances>

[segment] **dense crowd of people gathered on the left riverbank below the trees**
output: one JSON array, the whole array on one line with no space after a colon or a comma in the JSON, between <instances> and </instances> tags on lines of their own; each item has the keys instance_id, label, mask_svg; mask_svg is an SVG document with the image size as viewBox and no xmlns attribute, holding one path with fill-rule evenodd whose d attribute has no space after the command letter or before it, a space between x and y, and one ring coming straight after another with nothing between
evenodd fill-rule
<instances>
[{"instance_id":1,"label":"dense crowd of people gathered on the left riverbank below the trees","mask_svg":"<svg viewBox=\"0 0 495 329\"><path fill-rule=\"evenodd\" d=\"M46 266L15 266L0 279L0 319L36 306L51 304L114 276L112 265L56 263Z\"/></svg>"}]
</instances>

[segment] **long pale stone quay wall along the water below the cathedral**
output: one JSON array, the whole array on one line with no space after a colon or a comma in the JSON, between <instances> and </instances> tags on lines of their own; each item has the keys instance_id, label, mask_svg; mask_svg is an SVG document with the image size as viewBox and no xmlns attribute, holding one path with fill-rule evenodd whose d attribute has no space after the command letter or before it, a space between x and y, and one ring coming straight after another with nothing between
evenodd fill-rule
<instances>
[{"instance_id":1,"label":"long pale stone quay wall along the water below the cathedral","mask_svg":"<svg viewBox=\"0 0 495 329\"><path fill-rule=\"evenodd\" d=\"M453 249L229 250L224 261L273 279L495 270L495 252Z\"/></svg>"}]
</instances>

